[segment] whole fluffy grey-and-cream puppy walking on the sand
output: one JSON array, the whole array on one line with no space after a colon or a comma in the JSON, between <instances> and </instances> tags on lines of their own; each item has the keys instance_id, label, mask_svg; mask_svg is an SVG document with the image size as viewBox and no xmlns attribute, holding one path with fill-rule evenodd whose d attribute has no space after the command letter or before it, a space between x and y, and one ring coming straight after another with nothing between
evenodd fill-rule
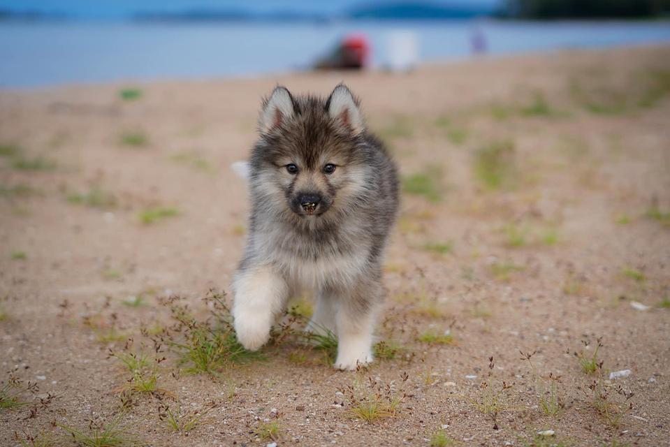
<instances>
[{"instance_id":1,"label":"whole fluffy grey-and-cream puppy walking on the sand","mask_svg":"<svg viewBox=\"0 0 670 447\"><path fill-rule=\"evenodd\" d=\"M258 127L249 237L233 279L238 339L263 346L288 298L307 289L316 295L307 330L337 335L335 367L366 365L398 211L395 165L342 84L326 99L275 88Z\"/></svg>"}]
</instances>

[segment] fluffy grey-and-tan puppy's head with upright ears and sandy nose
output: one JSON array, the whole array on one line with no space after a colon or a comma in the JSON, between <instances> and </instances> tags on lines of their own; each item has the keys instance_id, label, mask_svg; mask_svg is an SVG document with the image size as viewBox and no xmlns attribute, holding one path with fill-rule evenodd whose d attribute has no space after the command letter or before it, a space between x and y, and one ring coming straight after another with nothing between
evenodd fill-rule
<instances>
[{"instance_id":1,"label":"fluffy grey-and-tan puppy's head with upright ears and sandy nose","mask_svg":"<svg viewBox=\"0 0 670 447\"><path fill-rule=\"evenodd\" d=\"M356 99L339 85L323 101L277 87L263 104L252 156L253 200L300 219L326 219L367 200L365 131Z\"/></svg>"}]
</instances>

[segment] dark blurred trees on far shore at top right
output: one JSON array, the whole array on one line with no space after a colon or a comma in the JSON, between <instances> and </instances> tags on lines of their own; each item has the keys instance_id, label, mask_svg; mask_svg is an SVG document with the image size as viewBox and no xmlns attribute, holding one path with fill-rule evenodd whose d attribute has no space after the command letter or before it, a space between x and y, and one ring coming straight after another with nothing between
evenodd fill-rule
<instances>
[{"instance_id":1,"label":"dark blurred trees on far shore at top right","mask_svg":"<svg viewBox=\"0 0 670 447\"><path fill-rule=\"evenodd\" d=\"M505 0L502 15L522 19L653 17L670 13L670 0Z\"/></svg>"}]
</instances>

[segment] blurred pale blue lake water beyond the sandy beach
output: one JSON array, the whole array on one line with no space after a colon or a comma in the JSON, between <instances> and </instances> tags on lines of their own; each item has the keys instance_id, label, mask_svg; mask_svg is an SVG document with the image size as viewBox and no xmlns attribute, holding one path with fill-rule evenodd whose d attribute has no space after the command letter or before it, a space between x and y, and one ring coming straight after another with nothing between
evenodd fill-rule
<instances>
[{"instance_id":1,"label":"blurred pale blue lake water beyond the sandy beach","mask_svg":"<svg viewBox=\"0 0 670 447\"><path fill-rule=\"evenodd\" d=\"M670 22L0 22L0 87L304 69L352 31L370 37L374 66L398 30L416 33L423 61L462 59L477 28L490 54L670 43Z\"/></svg>"}]
</instances>

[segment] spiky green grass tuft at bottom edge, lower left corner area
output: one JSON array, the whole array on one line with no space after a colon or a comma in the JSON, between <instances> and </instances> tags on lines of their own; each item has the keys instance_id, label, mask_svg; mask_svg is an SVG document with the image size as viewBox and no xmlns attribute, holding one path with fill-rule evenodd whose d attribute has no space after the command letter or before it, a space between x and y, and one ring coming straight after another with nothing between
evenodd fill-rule
<instances>
[{"instance_id":1,"label":"spiky green grass tuft at bottom edge, lower left corner area","mask_svg":"<svg viewBox=\"0 0 670 447\"><path fill-rule=\"evenodd\" d=\"M71 427L57 424L78 446L85 447L130 447L142 446L135 434L122 425L123 413L119 413L108 423L90 421L86 427Z\"/></svg>"}]
</instances>

